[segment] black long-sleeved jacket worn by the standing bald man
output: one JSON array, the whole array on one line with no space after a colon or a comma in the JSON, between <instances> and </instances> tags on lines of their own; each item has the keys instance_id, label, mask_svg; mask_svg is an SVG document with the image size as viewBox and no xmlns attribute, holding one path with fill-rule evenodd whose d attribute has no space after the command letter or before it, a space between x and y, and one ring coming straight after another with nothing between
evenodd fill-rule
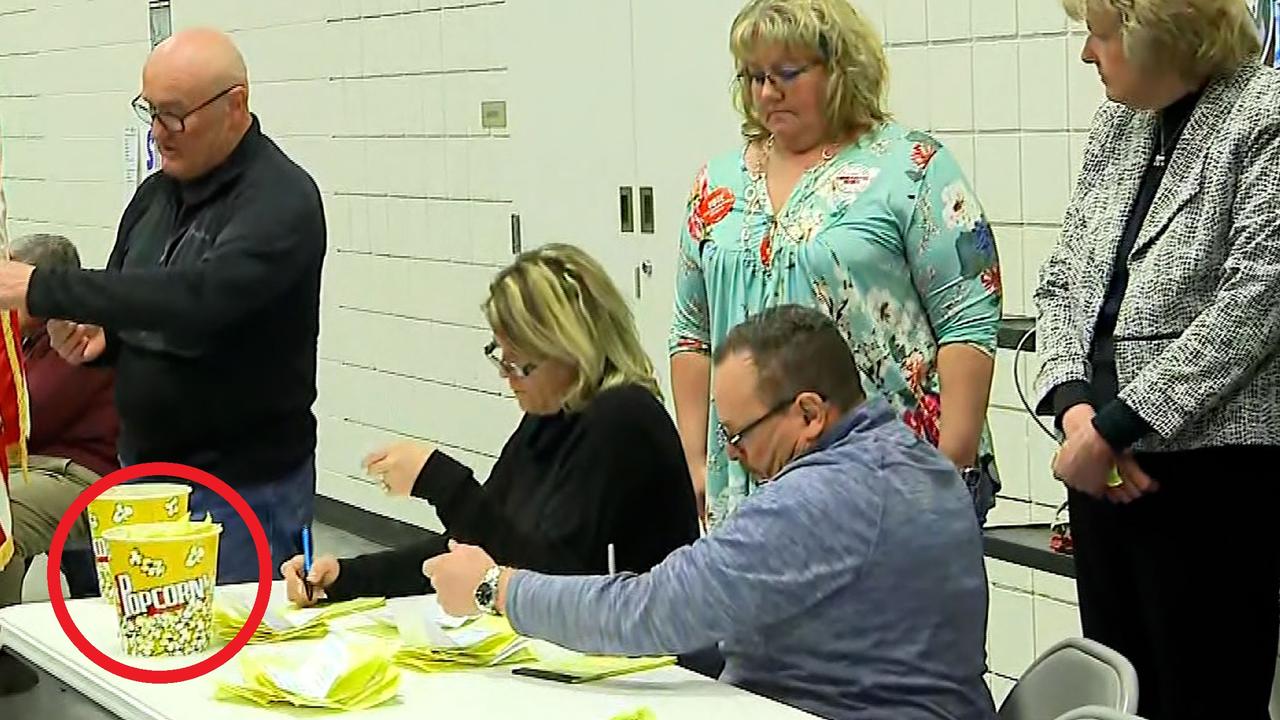
<instances>
[{"instance_id":1,"label":"black long-sleeved jacket worn by the standing bald man","mask_svg":"<svg viewBox=\"0 0 1280 720\"><path fill-rule=\"evenodd\" d=\"M257 118L206 176L148 177L105 270L37 269L36 316L108 331L120 456L270 480L315 452L324 209Z\"/></svg>"}]
</instances>

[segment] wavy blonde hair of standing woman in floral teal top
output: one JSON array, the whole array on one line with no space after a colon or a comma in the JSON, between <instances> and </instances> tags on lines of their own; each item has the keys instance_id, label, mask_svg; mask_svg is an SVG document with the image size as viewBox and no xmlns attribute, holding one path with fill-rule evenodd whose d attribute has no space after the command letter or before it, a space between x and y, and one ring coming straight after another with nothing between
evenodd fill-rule
<instances>
[{"instance_id":1,"label":"wavy blonde hair of standing woman in floral teal top","mask_svg":"<svg viewBox=\"0 0 1280 720\"><path fill-rule=\"evenodd\" d=\"M735 105L742 115L742 137L768 137L751 106L745 82L746 59L760 47L781 45L813 53L827 68L827 127L844 137L888 119L884 88L888 64L879 35L849 0L751 0L733 19L730 51L737 65Z\"/></svg>"}]
</instances>

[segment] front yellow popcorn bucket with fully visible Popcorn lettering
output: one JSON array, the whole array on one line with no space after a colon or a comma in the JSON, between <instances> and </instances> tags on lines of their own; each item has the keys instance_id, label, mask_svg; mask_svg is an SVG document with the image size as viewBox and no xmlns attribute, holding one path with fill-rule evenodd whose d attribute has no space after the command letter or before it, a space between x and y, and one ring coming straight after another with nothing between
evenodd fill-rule
<instances>
[{"instance_id":1,"label":"front yellow popcorn bucket with fully visible Popcorn lettering","mask_svg":"<svg viewBox=\"0 0 1280 720\"><path fill-rule=\"evenodd\" d=\"M120 644L166 657L209 647L214 630L220 524L148 523L102 533L110 556Z\"/></svg>"}]
</instances>

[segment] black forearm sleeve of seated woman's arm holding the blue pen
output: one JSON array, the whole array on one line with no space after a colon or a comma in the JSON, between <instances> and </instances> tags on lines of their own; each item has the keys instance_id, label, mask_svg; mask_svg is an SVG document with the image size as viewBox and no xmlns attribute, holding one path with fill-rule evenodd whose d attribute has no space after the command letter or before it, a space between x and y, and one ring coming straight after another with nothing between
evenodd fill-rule
<instances>
[{"instance_id":1,"label":"black forearm sleeve of seated woman's arm holding the blue pen","mask_svg":"<svg viewBox=\"0 0 1280 720\"><path fill-rule=\"evenodd\" d=\"M448 551L448 539L425 530L419 542L338 561L338 580L325 589L329 600L353 597L402 597L431 592L422 575L422 561Z\"/></svg>"}]
</instances>

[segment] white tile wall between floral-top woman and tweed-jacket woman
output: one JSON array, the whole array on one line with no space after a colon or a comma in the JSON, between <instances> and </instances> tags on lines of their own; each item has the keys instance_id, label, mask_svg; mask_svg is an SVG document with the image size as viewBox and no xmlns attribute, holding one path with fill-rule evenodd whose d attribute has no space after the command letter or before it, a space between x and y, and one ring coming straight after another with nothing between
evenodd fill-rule
<instances>
[{"instance_id":1,"label":"white tile wall between floral-top woman and tweed-jacket woman","mask_svg":"<svg viewBox=\"0 0 1280 720\"><path fill-rule=\"evenodd\" d=\"M960 156L972 152L966 169L1000 245L1005 313L1033 314L1037 273L1103 97L1096 73L1079 61L1079 28L1069 27L1059 0L854 4L886 27L891 110ZM1028 392L1034 363L1018 364ZM1005 484L993 525L1046 523L1065 498L1048 473L1055 445L1021 409L1014 369L1012 354L1001 351L988 415ZM1080 628L1074 582L1041 573L1033 582L1030 570L998 561L987 571L988 683L998 702L1038 652Z\"/></svg>"}]
</instances>

